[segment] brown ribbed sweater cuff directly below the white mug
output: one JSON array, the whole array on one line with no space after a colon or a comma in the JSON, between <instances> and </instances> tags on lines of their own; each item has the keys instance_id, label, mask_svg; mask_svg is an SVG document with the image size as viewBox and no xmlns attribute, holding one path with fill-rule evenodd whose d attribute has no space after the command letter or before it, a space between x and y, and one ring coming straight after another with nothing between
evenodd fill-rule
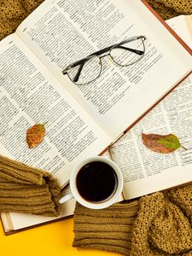
<instances>
[{"instance_id":1,"label":"brown ribbed sweater cuff directly below the white mug","mask_svg":"<svg viewBox=\"0 0 192 256\"><path fill-rule=\"evenodd\" d=\"M131 230L138 202L117 203L102 210L92 210L77 203L74 212L73 247L95 248L129 255Z\"/></svg>"}]
</instances>

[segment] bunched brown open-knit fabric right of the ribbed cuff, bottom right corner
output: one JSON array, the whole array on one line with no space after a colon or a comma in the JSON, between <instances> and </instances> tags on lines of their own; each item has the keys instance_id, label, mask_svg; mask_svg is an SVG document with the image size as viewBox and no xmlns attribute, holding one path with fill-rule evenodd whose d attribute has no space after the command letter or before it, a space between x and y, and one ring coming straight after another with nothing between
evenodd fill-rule
<instances>
[{"instance_id":1,"label":"bunched brown open-knit fabric right of the ribbed cuff, bottom right corner","mask_svg":"<svg viewBox=\"0 0 192 256\"><path fill-rule=\"evenodd\" d=\"M180 194L185 207L178 207L163 193L143 196L132 232L131 256L183 255L192 249L191 197L192 185L170 190L172 199ZM189 200L187 199L189 198ZM190 218L187 218L188 215ZM189 254L190 255L190 254Z\"/></svg>"}]
</instances>

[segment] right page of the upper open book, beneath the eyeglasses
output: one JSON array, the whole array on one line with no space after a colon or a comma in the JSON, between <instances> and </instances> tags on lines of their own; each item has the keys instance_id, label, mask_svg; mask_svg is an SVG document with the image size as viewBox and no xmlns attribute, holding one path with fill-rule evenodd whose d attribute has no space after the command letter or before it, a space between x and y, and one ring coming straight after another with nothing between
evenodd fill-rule
<instances>
[{"instance_id":1,"label":"right page of the upper open book, beneath the eyeglasses","mask_svg":"<svg viewBox=\"0 0 192 256\"><path fill-rule=\"evenodd\" d=\"M141 1L45 1L17 33L113 138L191 69L189 53ZM101 76L85 85L62 74L73 61L137 35L146 40L135 65L102 58Z\"/></svg>"}]
</instances>

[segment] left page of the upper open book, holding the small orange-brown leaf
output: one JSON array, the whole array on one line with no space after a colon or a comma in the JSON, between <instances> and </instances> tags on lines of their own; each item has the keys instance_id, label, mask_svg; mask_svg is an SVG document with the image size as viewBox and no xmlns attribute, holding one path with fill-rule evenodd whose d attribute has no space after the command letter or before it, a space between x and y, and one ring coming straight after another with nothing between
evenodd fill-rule
<instances>
[{"instance_id":1,"label":"left page of the upper open book, holding the small orange-brown leaf","mask_svg":"<svg viewBox=\"0 0 192 256\"><path fill-rule=\"evenodd\" d=\"M20 38L0 42L0 60L0 154L51 172L65 185L79 161L100 154L112 139ZM28 148L26 131L39 123L46 123L44 141Z\"/></svg>"}]
</instances>

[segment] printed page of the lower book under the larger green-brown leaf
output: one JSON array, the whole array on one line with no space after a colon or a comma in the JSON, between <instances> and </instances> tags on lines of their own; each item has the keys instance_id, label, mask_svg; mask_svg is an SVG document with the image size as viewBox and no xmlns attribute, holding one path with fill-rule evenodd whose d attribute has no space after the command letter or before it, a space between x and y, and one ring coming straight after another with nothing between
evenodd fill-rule
<instances>
[{"instance_id":1,"label":"printed page of the lower book under the larger green-brown leaf","mask_svg":"<svg viewBox=\"0 0 192 256\"><path fill-rule=\"evenodd\" d=\"M125 199L192 181L192 75L172 90L110 148L123 172ZM143 145L143 133L175 134L187 150L160 154Z\"/></svg>"}]
</instances>

